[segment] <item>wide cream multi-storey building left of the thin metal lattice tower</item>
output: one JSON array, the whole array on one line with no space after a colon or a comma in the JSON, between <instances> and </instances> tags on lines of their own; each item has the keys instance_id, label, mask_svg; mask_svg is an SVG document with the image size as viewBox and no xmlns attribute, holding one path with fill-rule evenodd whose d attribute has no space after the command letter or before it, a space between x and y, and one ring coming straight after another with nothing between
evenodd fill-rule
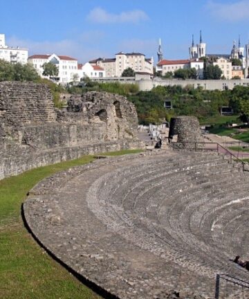
<instances>
[{"instance_id":1,"label":"wide cream multi-storey building left of the thin metal lattice tower","mask_svg":"<svg viewBox=\"0 0 249 299\"><path fill-rule=\"evenodd\" d=\"M101 66L107 78L121 77L122 72L131 68L136 72L153 74L153 57L145 58L142 53L117 53L115 58L98 58L89 62L92 65Z\"/></svg>"}]
</instances>

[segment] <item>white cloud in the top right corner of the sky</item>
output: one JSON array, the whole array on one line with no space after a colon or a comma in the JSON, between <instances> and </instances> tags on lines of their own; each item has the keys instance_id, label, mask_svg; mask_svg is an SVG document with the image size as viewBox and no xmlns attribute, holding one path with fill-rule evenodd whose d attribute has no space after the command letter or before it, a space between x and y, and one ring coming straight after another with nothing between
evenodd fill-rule
<instances>
[{"instance_id":1,"label":"white cloud in the top right corner of the sky","mask_svg":"<svg viewBox=\"0 0 249 299\"><path fill-rule=\"evenodd\" d=\"M209 1L207 8L214 17L222 21L244 21L249 18L249 0L234 3Z\"/></svg>"}]
</instances>

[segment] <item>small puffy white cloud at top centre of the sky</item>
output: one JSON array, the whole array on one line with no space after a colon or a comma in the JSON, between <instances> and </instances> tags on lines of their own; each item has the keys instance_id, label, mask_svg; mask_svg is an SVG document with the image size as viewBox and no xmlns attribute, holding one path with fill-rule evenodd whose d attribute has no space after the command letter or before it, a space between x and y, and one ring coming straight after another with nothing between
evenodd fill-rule
<instances>
[{"instance_id":1,"label":"small puffy white cloud at top centre of the sky","mask_svg":"<svg viewBox=\"0 0 249 299\"><path fill-rule=\"evenodd\" d=\"M147 14L142 10L131 10L113 14L102 8L93 8L89 15L86 16L88 21L93 23L138 23L149 19Z\"/></svg>"}]
</instances>

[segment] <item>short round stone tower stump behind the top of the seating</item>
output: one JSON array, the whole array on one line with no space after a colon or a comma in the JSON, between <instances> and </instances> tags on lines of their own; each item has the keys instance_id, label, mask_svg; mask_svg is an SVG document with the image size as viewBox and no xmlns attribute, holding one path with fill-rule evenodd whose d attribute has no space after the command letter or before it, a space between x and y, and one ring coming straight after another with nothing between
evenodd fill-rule
<instances>
[{"instance_id":1,"label":"short round stone tower stump behind the top of the seating","mask_svg":"<svg viewBox=\"0 0 249 299\"><path fill-rule=\"evenodd\" d=\"M199 120L195 116L172 118L169 125L169 138L175 135L177 135L177 143L181 143L183 148L190 148L193 147L193 143L203 142Z\"/></svg>"}]
</instances>

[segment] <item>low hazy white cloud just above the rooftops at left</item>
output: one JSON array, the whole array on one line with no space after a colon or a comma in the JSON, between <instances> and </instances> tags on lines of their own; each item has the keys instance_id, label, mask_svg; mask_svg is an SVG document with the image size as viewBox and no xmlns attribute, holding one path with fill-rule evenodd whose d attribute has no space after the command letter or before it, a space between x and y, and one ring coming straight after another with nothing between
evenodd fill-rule
<instances>
[{"instance_id":1,"label":"low hazy white cloud just above the rooftops at left","mask_svg":"<svg viewBox=\"0 0 249 299\"><path fill-rule=\"evenodd\" d=\"M88 35L88 33L82 33L82 37L86 37L86 35ZM12 36L6 40L6 44L8 44L8 46L28 48L28 55L55 53L57 55L74 57L78 62L88 62L97 57L107 57L110 55L110 53L103 53L94 43L90 45L88 42L86 44L86 42L82 41L82 37L79 40L62 39L57 42L34 42L32 40L19 39L18 37Z\"/></svg>"}]
</instances>

